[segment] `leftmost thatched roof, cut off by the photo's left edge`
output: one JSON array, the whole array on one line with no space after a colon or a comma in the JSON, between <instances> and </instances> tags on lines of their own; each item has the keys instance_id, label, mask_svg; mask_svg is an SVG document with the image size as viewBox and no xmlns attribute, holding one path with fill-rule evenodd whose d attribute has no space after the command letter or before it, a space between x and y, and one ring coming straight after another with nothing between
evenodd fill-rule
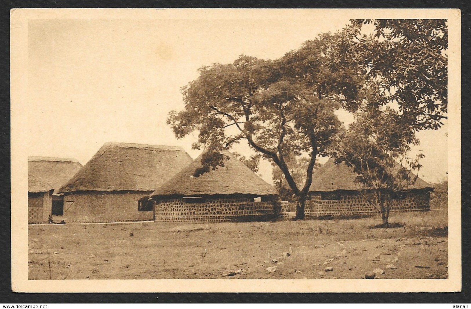
<instances>
[{"instance_id":1,"label":"leftmost thatched roof, cut off by the photo's left edge","mask_svg":"<svg viewBox=\"0 0 471 309\"><path fill-rule=\"evenodd\" d=\"M69 179L75 175L82 165L75 159L53 157L29 157L28 158L28 188L30 181L34 182L30 192L46 192L55 189L54 194Z\"/></svg>"}]
</instances>

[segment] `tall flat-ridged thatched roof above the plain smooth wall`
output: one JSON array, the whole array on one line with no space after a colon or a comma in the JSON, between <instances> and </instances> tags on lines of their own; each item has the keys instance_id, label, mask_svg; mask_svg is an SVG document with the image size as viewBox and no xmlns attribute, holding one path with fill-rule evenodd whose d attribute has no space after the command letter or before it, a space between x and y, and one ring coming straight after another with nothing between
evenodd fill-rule
<instances>
[{"instance_id":1,"label":"tall flat-ridged thatched roof above the plain smooth wall","mask_svg":"<svg viewBox=\"0 0 471 309\"><path fill-rule=\"evenodd\" d=\"M153 191L191 161L181 147L106 143L60 191Z\"/></svg>"}]
</instances>

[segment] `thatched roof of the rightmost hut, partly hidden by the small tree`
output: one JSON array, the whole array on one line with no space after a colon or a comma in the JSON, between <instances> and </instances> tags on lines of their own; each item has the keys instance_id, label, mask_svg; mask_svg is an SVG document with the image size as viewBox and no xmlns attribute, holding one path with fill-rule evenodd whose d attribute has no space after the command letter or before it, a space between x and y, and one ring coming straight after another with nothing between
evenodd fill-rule
<instances>
[{"instance_id":1,"label":"thatched roof of the rightmost hut, partly hidden by the small tree","mask_svg":"<svg viewBox=\"0 0 471 309\"><path fill-rule=\"evenodd\" d=\"M361 183L355 182L356 177L357 174L353 172L352 167L343 162L336 165L334 159L330 158L312 174L312 184L309 191L360 190L363 187ZM432 189L432 186L417 177L415 183L405 189Z\"/></svg>"}]
</instances>

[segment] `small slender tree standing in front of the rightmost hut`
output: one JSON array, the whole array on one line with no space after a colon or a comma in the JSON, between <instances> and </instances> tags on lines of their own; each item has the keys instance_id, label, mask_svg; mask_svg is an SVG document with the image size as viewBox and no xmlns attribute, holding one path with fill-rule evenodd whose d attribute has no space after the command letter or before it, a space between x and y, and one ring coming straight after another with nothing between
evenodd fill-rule
<instances>
[{"instance_id":1,"label":"small slender tree standing in front of the rightmost hut","mask_svg":"<svg viewBox=\"0 0 471 309\"><path fill-rule=\"evenodd\" d=\"M374 112L357 113L356 121L333 143L333 157L338 164L344 162L358 174L356 181L362 186L362 195L380 213L383 226L389 225L392 198L398 191L414 184L423 158L408 158L415 138L414 127L401 121L397 111L390 108Z\"/></svg>"}]
</instances>

